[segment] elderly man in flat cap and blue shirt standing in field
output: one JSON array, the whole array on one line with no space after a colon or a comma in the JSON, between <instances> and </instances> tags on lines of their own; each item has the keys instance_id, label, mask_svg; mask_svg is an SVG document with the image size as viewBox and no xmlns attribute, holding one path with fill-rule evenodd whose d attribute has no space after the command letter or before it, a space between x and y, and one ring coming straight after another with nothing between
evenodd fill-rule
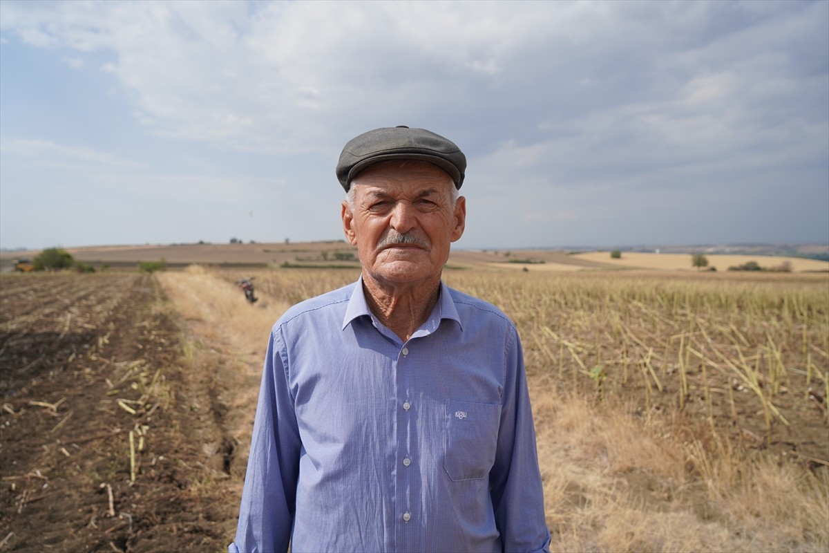
<instances>
[{"instance_id":1,"label":"elderly man in flat cap and blue shirt standing in field","mask_svg":"<svg viewBox=\"0 0 829 553\"><path fill-rule=\"evenodd\" d=\"M361 278L274 325L235 551L546 551L515 327L448 288L466 158L424 129L342 150Z\"/></svg>"}]
</instances>

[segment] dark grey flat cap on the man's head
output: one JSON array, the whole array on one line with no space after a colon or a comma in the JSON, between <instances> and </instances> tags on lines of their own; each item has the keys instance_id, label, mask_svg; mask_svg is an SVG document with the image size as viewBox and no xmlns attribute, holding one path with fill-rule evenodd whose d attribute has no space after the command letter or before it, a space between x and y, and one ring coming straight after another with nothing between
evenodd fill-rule
<instances>
[{"instance_id":1,"label":"dark grey flat cap on the man's head","mask_svg":"<svg viewBox=\"0 0 829 553\"><path fill-rule=\"evenodd\" d=\"M348 192L357 173L391 159L432 163L448 172L458 190L463 184L466 156L455 143L426 129L410 129L403 125L374 129L351 138L340 153L337 179Z\"/></svg>"}]
</instances>

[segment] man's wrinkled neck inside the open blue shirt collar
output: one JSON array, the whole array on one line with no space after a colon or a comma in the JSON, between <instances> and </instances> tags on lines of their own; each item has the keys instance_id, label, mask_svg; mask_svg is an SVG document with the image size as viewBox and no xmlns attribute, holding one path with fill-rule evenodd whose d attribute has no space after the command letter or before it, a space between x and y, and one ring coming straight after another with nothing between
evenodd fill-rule
<instances>
[{"instance_id":1,"label":"man's wrinkled neck inside the open blue shirt collar","mask_svg":"<svg viewBox=\"0 0 829 553\"><path fill-rule=\"evenodd\" d=\"M406 342L438 303L440 279L395 284L373 279L364 272L363 293L371 313Z\"/></svg>"}]
</instances>

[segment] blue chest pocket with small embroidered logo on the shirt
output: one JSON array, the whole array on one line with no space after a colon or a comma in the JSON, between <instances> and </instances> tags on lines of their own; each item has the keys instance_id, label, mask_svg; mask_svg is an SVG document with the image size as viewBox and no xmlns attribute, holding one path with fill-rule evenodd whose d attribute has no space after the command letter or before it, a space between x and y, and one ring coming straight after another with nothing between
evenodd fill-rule
<instances>
[{"instance_id":1,"label":"blue chest pocket with small embroidered logo on the shirt","mask_svg":"<svg viewBox=\"0 0 829 553\"><path fill-rule=\"evenodd\" d=\"M453 482L484 478L495 463L501 405L446 401L444 469Z\"/></svg>"}]
</instances>

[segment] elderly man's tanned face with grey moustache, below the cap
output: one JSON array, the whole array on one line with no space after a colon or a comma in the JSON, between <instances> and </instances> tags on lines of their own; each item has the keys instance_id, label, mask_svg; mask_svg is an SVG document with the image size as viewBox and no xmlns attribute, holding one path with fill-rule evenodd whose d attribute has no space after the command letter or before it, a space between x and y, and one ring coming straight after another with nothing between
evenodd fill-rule
<instances>
[{"instance_id":1,"label":"elderly man's tanned face with grey moustache, below the cap","mask_svg":"<svg viewBox=\"0 0 829 553\"><path fill-rule=\"evenodd\" d=\"M452 205L452 178L431 163L377 163L354 182L342 226L364 271L389 284L439 279L449 244L463 235L466 200Z\"/></svg>"}]
</instances>

